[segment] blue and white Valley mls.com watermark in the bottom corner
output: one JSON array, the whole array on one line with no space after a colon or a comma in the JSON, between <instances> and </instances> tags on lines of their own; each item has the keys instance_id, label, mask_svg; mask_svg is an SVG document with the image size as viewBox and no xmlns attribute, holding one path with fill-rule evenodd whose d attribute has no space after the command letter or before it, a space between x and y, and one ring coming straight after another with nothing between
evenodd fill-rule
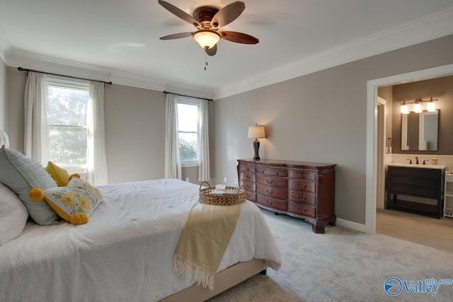
<instances>
[{"instance_id":1,"label":"blue and white Valley mls.com watermark in the bottom corner","mask_svg":"<svg viewBox=\"0 0 453 302\"><path fill-rule=\"evenodd\" d=\"M386 279L384 282L384 291L389 296L397 296L401 291L413 294L431 294L435 296L439 287L444 284L453 284L453 279L425 279L420 281L401 281L396 277Z\"/></svg>"}]
</instances>

